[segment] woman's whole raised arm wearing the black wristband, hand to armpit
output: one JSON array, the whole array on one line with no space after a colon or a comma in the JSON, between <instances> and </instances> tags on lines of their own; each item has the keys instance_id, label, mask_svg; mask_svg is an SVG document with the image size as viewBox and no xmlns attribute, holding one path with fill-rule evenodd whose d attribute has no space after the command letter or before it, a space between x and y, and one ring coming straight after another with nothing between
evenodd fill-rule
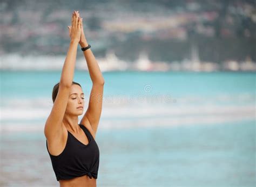
<instances>
[{"instance_id":1,"label":"woman's whole raised arm wearing the black wristband, hand to armpit","mask_svg":"<svg viewBox=\"0 0 256 187\"><path fill-rule=\"evenodd\" d=\"M79 16L79 13L78 13ZM81 21L81 37L79 41L80 47L87 47L88 43L85 38L83 29L83 18ZM103 88L104 88L104 78L99 69L98 62L93 55L91 48L83 52L87 63L89 74L92 81L92 89L90 93L89 105L80 124L85 125L89 123L92 127L94 137L96 137L96 132L98 129L100 114L102 113L102 101L103 101Z\"/></svg>"}]
</instances>

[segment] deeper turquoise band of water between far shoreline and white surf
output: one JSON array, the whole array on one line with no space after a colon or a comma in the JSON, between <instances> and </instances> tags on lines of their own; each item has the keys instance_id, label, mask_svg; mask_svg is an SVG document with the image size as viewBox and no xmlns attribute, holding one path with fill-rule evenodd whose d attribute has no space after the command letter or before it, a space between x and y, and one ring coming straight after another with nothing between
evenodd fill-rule
<instances>
[{"instance_id":1,"label":"deeper turquoise band of water between far shoreline and white surf","mask_svg":"<svg viewBox=\"0 0 256 187\"><path fill-rule=\"evenodd\" d=\"M2 95L41 97L51 95L52 87L59 82L61 71L2 71ZM215 96L238 93L255 94L255 74L245 72L106 72L105 94L127 95L144 92L144 86L152 87L151 93L169 92L174 97L196 95ZM18 80L18 81L17 81ZM91 80L87 72L76 70L74 80L83 89L90 90Z\"/></svg>"}]
</instances>

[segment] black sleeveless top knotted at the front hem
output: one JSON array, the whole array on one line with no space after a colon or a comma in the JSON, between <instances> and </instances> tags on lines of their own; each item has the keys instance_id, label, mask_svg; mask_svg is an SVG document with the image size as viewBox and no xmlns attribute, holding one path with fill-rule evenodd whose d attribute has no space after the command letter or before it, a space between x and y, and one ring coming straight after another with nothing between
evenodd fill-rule
<instances>
[{"instance_id":1,"label":"black sleeveless top knotted at the front hem","mask_svg":"<svg viewBox=\"0 0 256 187\"><path fill-rule=\"evenodd\" d=\"M47 140L46 148L51 158L53 171L57 181L88 175L90 178L98 177L99 169L99 148L87 128L79 124L80 128L87 136L89 143L85 145L75 138L68 131L68 140L62 153L51 155L48 149Z\"/></svg>"}]
</instances>

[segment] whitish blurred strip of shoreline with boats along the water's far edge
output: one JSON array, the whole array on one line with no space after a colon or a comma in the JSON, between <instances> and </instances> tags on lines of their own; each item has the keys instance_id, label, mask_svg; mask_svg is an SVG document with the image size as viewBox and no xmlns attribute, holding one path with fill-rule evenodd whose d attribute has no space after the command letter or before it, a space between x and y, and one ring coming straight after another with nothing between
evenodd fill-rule
<instances>
[{"instance_id":1,"label":"whitish blurred strip of shoreline with boats along the water's far edge","mask_svg":"<svg viewBox=\"0 0 256 187\"><path fill-rule=\"evenodd\" d=\"M21 55L17 53L1 55L0 70L62 70L64 55ZM193 59L194 58L194 59ZM198 57L183 61L152 61L147 53L141 53L136 61L125 61L110 51L106 57L96 57L100 70L105 71L256 71L256 62L228 60L221 64L200 61ZM76 69L86 70L84 57L77 57Z\"/></svg>"}]
</instances>

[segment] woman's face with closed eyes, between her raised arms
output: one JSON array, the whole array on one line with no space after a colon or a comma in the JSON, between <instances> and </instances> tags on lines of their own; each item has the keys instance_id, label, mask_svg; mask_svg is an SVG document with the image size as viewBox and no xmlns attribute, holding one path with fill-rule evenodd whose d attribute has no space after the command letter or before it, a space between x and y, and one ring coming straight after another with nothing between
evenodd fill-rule
<instances>
[{"instance_id":1,"label":"woman's face with closed eyes, between her raised arms","mask_svg":"<svg viewBox=\"0 0 256 187\"><path fill-rule=\"evenodd\" d=\"M78 107L83 108L78 108ZM84 111L84 93L81 87L73 84L70 90L68 105L66 106L66 113L80 116Z\"/></svg>"}]
</instances>

